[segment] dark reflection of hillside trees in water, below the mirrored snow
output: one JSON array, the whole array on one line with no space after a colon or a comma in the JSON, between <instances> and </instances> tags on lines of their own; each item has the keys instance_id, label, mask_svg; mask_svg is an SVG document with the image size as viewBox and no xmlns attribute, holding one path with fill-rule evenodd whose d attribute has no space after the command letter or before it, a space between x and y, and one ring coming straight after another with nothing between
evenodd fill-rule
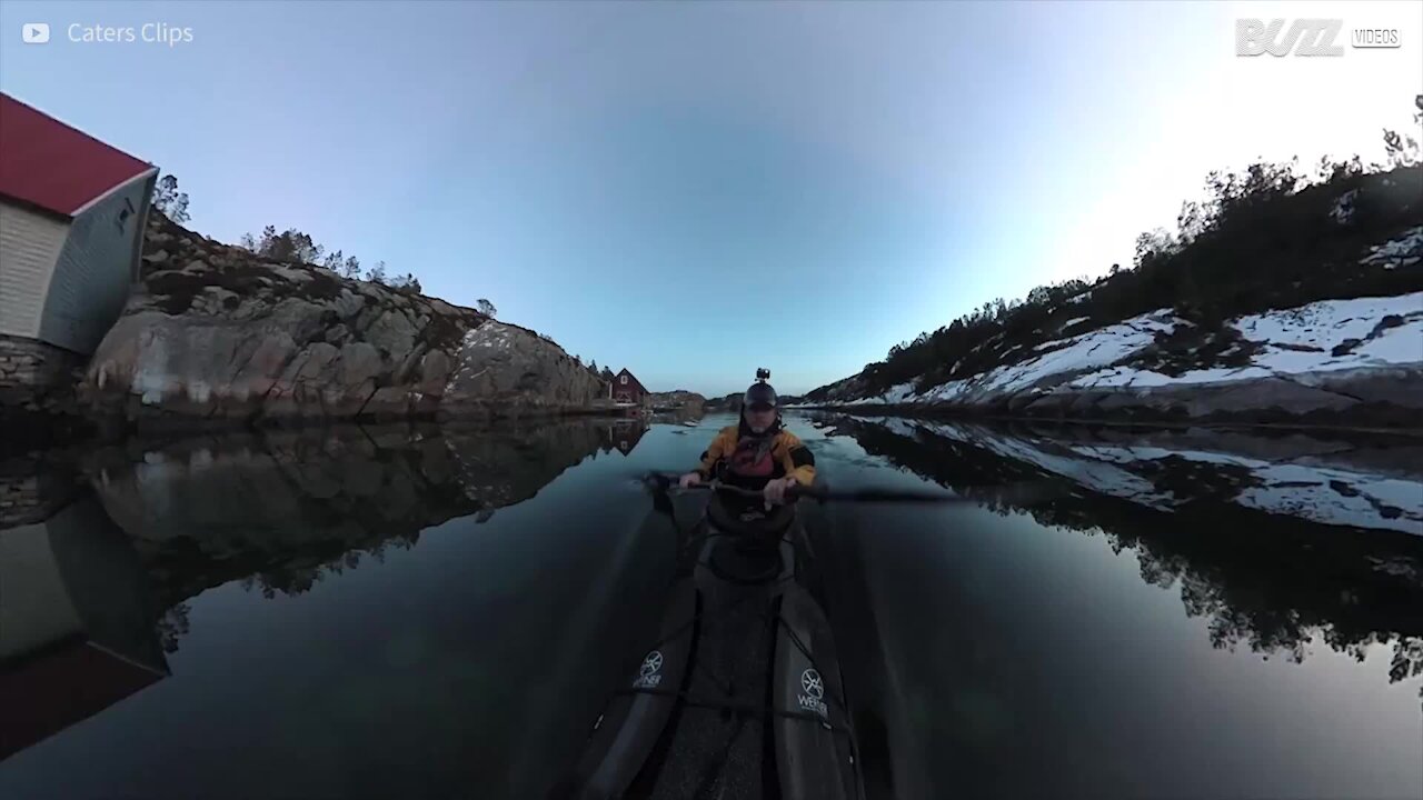
<instances>
[{"instance_id":1,"label":"dark reflection of hillside trees in water, below the mirrored snow","mask_svg":"<svg viewBox=\"0 0 1423 800\"><path fill-rule=\"evenodd\" d=\"M1000 515L1106 537L1131 549L1141 579L1178 586L1187 615L1207 619L1211 645L1302 662L1311 643L1363 660L1392 651L1390 682L1423 676L1423 581L1417 542L1387 531L1340 531L1231 502L1255 477L1231 464L1164 458L1155 488L1188 497L1174 512L1076 485L1035 507L1015 507L992 487L1047 475L1039 467L929 431L916 438L837 419L835 433L916 475L976 497ZM1060 480L1057 475L1049 475ZM1160 478L1160 480L1155 480ZM1403 565L1387 569L1387 565Z\"/></svg>"}]
</instances>

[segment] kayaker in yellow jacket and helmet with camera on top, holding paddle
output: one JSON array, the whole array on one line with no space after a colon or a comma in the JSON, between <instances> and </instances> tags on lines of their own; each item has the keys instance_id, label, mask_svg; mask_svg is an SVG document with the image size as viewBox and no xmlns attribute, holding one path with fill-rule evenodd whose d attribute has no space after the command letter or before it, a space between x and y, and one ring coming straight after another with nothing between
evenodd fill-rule
<instances>
[{"instance_id":1,"label":"kayaker in yellow jacket and helmet with camera on top, holding paddle","mask_svg":"<svg viewBox=\"0 0 1423 800\"><path fill-rule=\"evenodd\" d=\"M741 419L717 433L697 468L682 475L682 488L716 473L723 483L761 490L770 508L785 502L787 488L814 483L815 457L783 427L776 389L766 383L770 374L757 370L757 381L741 397Z\"/></svg>"}]
</instances>

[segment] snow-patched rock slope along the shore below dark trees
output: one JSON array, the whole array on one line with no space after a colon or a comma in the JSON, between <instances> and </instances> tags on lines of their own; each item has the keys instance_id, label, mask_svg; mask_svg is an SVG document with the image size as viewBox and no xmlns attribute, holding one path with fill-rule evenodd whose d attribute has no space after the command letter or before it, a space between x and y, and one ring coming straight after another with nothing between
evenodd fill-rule
<instances>
[{"instance_id":1,"label":"snow-patched rock slope along the shore below dark trees","mask_svg":"<svg viewBox=\"0 0 1423 800\"><path fill-rule=\"evenodd\" d=\"M1423 269L1423 226L1372 248L1362 262ZM1059 330L1080 326L1083 317ZM904 383L859 396L828 387L822 407L905 406L1087 416L1143 410L1202 419L1389 409L1423 411L1423 292L1322 300L1239 316L1220 330L1158 309L1033 347L1006 363L932 387ZM1254 391L1259 389L1259 391Z\"/></svg>"}]
</instances>

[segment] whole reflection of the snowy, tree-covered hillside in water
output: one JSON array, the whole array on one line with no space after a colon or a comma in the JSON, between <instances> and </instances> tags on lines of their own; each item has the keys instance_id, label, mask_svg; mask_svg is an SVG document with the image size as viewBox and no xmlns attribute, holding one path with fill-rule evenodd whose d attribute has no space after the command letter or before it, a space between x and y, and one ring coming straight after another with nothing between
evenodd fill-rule
<instances>
[{"instance_id":1,"label":"whole reflection of the snowy, tree-covered hillside in water","mask_svg":"<svg viewBox=\"0 0 1423 800\"><path fill-rule=\"evenodd\" d=\"M921 477L993 498L1005 512L1012 505L993 485L1072 485L1019 511L1131 549L1143 581L1180 591L1217 648L1303 660L1322 641L1362 660L1382 645L1393 652L1390 679L1423 675L1423 538L1407 530L1419 514L1410 497L1423 504L1416 444L1080 427L1046 436L844 416L820 423Z\"/></svg>"}]
</instances>

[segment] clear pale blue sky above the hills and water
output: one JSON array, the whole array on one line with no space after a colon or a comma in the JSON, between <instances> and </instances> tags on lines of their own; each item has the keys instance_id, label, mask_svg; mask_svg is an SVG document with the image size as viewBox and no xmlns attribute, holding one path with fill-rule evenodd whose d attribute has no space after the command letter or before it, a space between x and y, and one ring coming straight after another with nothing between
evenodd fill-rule
<instances>
[{"instance_id":1,"label":"clear pale blue sky above the hills and water","mask_svg":"<svg viewBox=\"0 0 1423 800\"><path fill-rule=\"evenodd\" d=\"M1241 17L1339 17L1345 56L1237 57ZM203 235L297 228L652 390L804 393L1130 263L1211 169L1382 161L1423 3L0 0L0 91Z\"/></svg>"}]
</instances>

